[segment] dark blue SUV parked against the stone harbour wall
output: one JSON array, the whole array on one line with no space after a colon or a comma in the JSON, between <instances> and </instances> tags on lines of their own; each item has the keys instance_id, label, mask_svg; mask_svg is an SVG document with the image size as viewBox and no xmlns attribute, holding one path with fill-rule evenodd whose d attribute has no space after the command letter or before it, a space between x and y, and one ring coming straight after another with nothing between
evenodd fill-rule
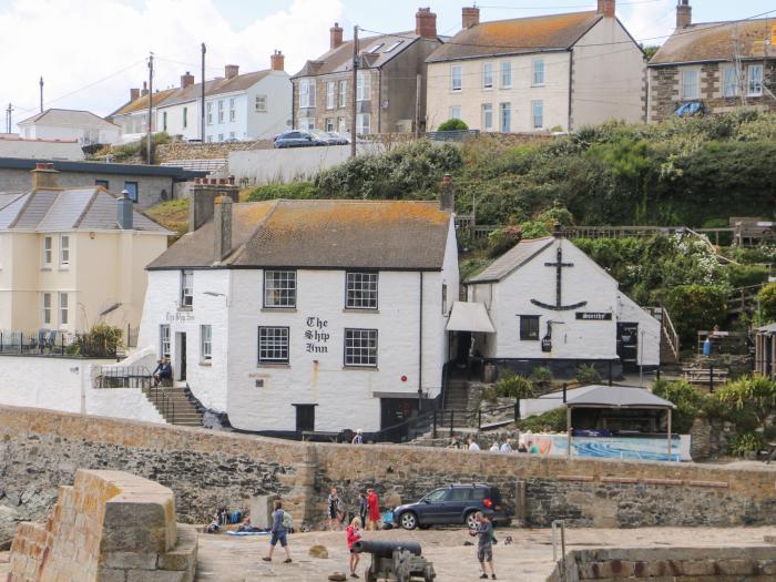
<instances>
[{"instance_id":1,"label":"dark blue SUV parked against the stone harbour wall","mask_svg":"<svg viewBox=\"0 0 776 582\"><path fill-rule=\"evenodd\" d=\"M508 525L514 511L501 499L498 488L487 483L451 484L435 489L417 503L394 510L394 523L406 530L431 525L461 524L477 527L474 515L481 511L494 524Z\"/></svg>"}]
</instances>

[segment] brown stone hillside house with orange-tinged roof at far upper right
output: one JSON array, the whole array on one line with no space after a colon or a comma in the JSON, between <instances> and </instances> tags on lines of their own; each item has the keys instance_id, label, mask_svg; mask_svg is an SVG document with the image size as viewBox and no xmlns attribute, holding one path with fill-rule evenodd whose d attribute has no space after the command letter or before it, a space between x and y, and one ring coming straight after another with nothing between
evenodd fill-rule
<instances>
[{"instance_id":1,"label":"brown stone hillside house with orange-tinged roof at far upper right","mask_svg":"<svg viewBox=\"0 0 776 582\"><path fill-rule=\"evenodd\" d=\"M706 113L776 111L776 22L693 23L692 14L690 0L678 0L676 29L650 60L650 121L693 103Z\"/></svg>"}]
</instances>

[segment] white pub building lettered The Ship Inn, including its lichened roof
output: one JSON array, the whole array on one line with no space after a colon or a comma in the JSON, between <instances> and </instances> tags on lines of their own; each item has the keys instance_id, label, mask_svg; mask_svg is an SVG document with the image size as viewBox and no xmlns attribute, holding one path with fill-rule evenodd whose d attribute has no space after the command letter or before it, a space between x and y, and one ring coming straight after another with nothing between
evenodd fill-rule
<instances>
[{"instance_id":1,"label":"white pub building lettered The Ship Inn, including its lichened roof","mask_svg":"<svg viewBox=\"0 0 776 582\"><path fill-rule=\"evenodd\" d=\"M214 204L216 190L195 188L192 232L147 267L139 346L175 380L234 428L275 435L377 431L439 396L451 200Z\"/></svg>"}]
</instances>

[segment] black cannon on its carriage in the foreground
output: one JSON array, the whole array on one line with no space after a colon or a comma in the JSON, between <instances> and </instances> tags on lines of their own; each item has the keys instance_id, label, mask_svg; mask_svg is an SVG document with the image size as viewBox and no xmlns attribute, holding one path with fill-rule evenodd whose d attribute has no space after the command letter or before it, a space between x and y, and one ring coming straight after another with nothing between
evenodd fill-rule
<instances>
[{"instance_id":1,"label":"black cannon on its carriage in the foreground","mask_svg":"<svg viewBox=\"0 0 776 582\"><path fill-rule=\"evenodd\" d=\"M353 549L371 554L366 582L377 582L378 578L398 582L410 582L413 578L419 578L423 582L433 582L437 578L433 564L421 555L422 549L417 542L357 541Z\"/></svg>"}]
</instances>

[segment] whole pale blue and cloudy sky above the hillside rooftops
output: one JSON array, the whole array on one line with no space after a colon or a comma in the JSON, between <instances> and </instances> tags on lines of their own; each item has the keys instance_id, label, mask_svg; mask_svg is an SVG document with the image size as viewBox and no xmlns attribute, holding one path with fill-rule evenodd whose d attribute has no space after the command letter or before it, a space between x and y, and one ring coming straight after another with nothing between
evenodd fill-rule
<instances>
[{"instance_id":1,"label":"whole pale blue and cloudy sky above the hillside rooftops","mask_svg":"<svg viewBox=\"0 0 776 582\"><path fill-rule=\"evenodd\" d=\"M749 18L776 0L691 0L693 21ZM123 105L130 88L147 79L154 53L154 88L177 86L192 71L200 81L202 42L206 76L225 64L241 72L267 69L269 54L286 54L286 70L328 49L329 27L397 32L415 28L419 6L437 13L440 34L460 29L466 0L0 0L0 108L11 103L13 124L44 108L108 115ZM500 20L594 9L596 0L482 0L481 20ZM617 17L646 45L660 44L675 23L676 0L617 0ZM4 131L4 125L0 127ZM16 127L13 131L17 131Z\"/></svg>"}]
</instances>

